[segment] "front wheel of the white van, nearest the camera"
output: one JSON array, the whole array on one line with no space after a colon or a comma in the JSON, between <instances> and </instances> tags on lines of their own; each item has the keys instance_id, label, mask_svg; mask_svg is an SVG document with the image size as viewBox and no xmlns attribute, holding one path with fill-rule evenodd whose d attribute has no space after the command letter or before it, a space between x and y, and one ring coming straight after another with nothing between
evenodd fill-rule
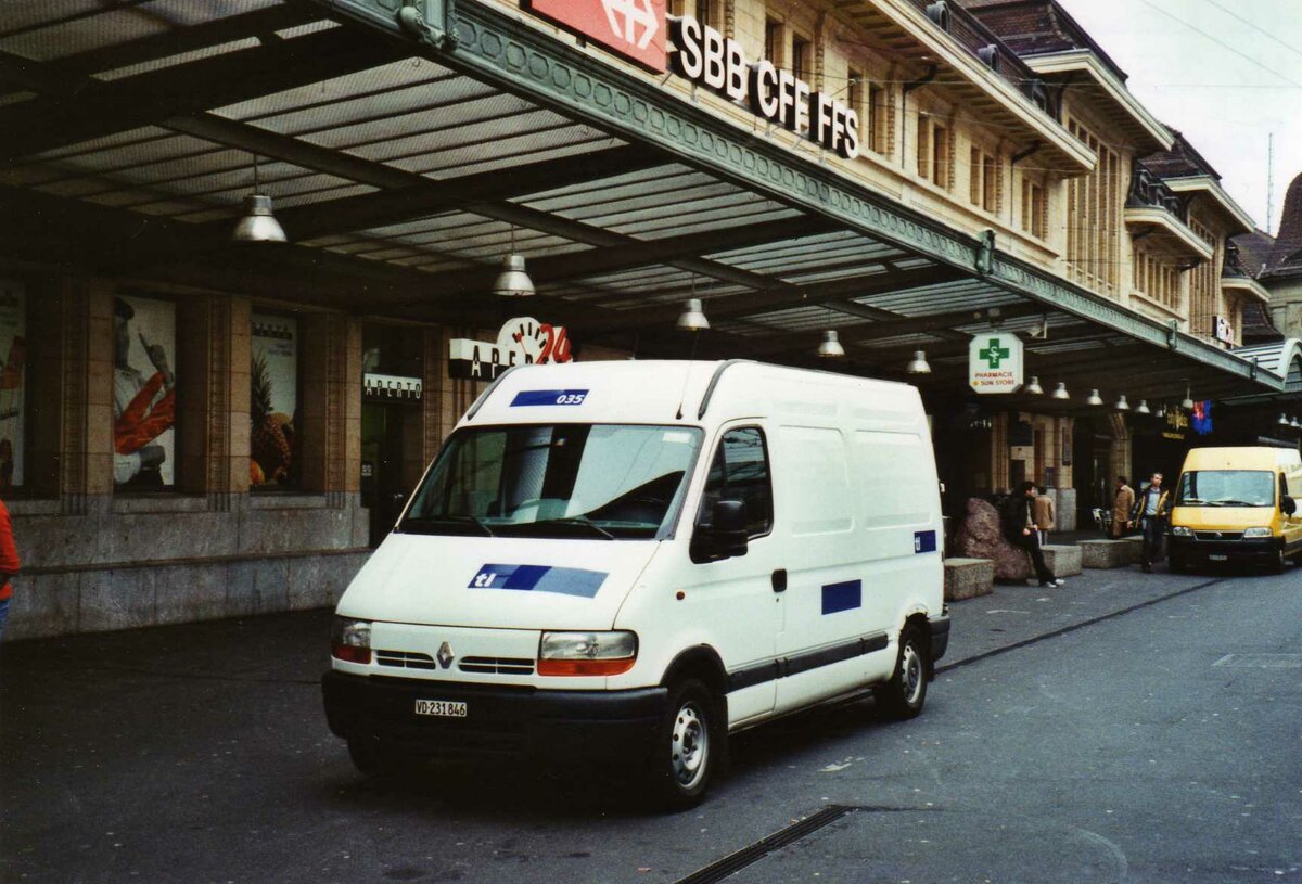
<instances>
[{"instance_id":1,"label":"front wheel of the white van, nearest the camera","mask_svg":"<svg viewBox=\"0 0 1302 884\"><path fill-rule=\"evenodd\" d=\"M667 810L687 810L700 803L727 753L727 725L719 703L695 678L669 690L651 755L651 785Z\"/></svg>"}]
</instances>

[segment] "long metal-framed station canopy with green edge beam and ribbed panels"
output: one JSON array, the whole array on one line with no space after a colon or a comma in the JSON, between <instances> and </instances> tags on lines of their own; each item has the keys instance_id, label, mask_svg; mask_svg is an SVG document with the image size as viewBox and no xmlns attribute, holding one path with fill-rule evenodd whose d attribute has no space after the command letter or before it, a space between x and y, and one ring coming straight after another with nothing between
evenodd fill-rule
<instances>
[{"instance_id":1,"label":"long metal-framed station canopy with green edge beam and ribbed panels","mask_svg":"<svg viewBox=\"0 0 1302 884\"><path fill-rule=\"evenodd\" d=\"M904 378L924 350L937 388L963 387L969 340L999 328L1077 404L1282 389L572 38L458 0L437 39L398 7L5 4L0 254L466 329L527 314L639 357L816 366L836 329L838 370ZM286 243L232 242L255 186ZM512 253L529 301L491 293ZM674 329L689 298L697 338Z\"/></svg>"}]
</instances>

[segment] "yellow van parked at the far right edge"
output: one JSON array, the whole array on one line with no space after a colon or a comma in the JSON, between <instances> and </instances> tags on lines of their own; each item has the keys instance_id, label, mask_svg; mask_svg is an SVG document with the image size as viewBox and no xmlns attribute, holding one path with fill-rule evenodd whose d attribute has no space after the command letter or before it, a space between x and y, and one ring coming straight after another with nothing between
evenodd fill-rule
<instances>
[{"instance_id":1,"label":"yellow van parked at the far right edge","mask_svg":"<svg viewBox=\"0 0 1302 884\"><path fill-rule=\"evenodd\" d=\"M1286 448L1195 448L1170 510L1170 570L1246 562L1284 570L1302 560L1302 458Z\"/></svg>"}]
</instances>

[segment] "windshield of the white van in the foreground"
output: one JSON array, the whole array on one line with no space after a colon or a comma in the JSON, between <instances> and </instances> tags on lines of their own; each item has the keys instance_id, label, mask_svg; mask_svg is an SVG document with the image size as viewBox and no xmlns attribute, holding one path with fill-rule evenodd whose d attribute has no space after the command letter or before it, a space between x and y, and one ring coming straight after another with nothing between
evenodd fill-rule
<instances>
[{"instance_id":1,"label":"windshield of the white van in the foreground","mask_svg":"<svg viewBox=\"0 0 1302 884\"><path fill-rule=\"evenodd\" d=\"M668 531L702 431L637 424L460 430L398 525L408 534L648 539Z\"/></svg>"}]
</instances>

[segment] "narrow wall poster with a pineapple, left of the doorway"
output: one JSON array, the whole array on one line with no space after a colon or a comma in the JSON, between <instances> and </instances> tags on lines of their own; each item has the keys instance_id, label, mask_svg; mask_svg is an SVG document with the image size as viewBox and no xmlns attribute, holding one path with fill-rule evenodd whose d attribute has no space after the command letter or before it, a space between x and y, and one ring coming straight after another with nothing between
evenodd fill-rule
<instances>
[{"instance_id":1,"label":"narrow wall poster with a pineapple, left of the doorway","mask_svg":"<svg viewBox=\"0 0 1302 884\"><path fill-rule=\"evenodd\" d=\"M253 372L249 424L249 484L297 486L298 322L253 315Z\"/></svg>"}]
</instances>

